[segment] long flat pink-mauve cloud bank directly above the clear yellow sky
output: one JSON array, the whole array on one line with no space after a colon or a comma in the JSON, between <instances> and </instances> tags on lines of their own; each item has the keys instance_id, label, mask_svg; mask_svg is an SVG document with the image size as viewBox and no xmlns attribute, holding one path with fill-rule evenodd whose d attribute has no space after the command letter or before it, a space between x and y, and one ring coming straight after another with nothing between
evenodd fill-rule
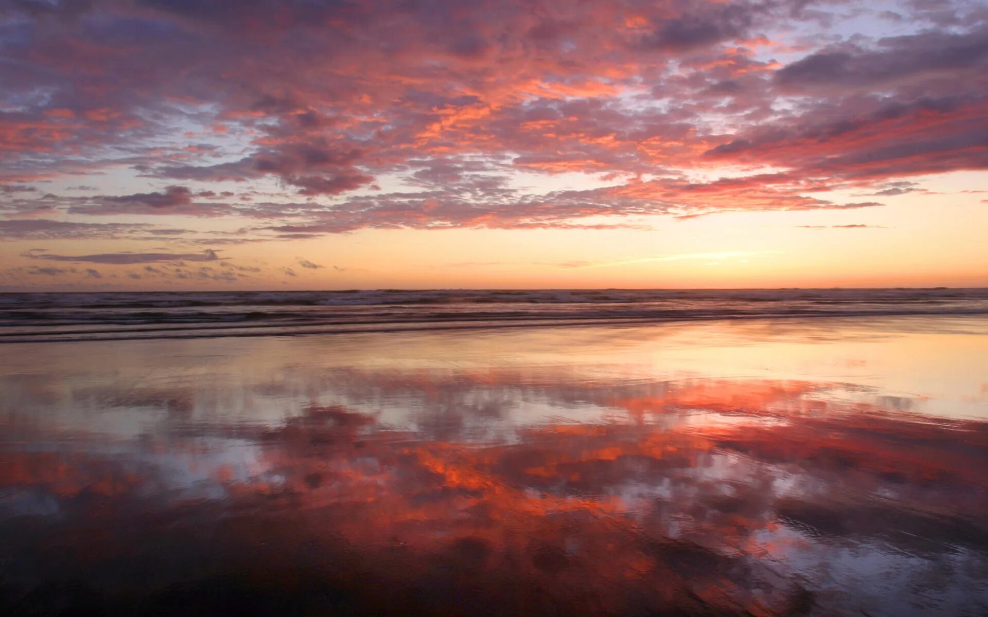
<instances>
[{"instance_id":1,"label":"long flat pink-mauve cloud bank directly above the clear yellow sky","mask_svg":"<svg viewBox=\"0 0 988 617\"><path fill-rule=\"evenodd\" d=\"M723 211L855 209L876 201L837 203L802 195L803 187L784 176L757 176L689 183L664 179L588 191L542 195L501 190L499 202L485 203L469 190L385 193L320 208L281 204L291 222L264 225L256 232L276 237L309 237L359 229L614 229L647 228L629 217L694 217ZM596 219L595 219L596 217ZM601 218L604 220L601 220ZM606 221L606 222L605 222Z\"/></svg>"}]
</instances>

